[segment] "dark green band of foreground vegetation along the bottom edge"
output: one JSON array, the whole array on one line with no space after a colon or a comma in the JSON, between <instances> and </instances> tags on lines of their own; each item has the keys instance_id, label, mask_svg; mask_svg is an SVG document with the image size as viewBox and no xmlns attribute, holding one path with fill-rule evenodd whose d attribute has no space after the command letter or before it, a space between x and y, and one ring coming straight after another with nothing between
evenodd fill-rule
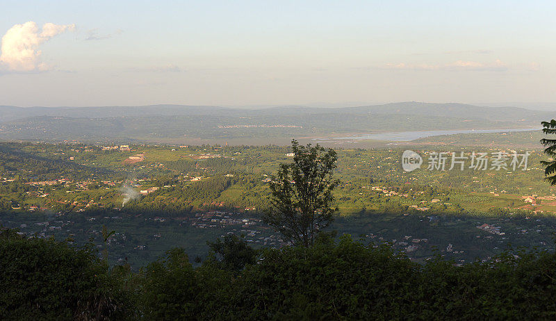
<instances>
[{"instance_id":1,"label":"dark green band of foreground vegetation along the bottom edge","mask_svg":"<svg viewBox=\"0 0 556 321\"><path fill-rule=\"evenodd\" d=\"M556 254L505 252L462 267L412 263L344 235L313 247L212 244L194 268L183 249L138 272L90 247L0 242L0 318L57 320L546 320L556 316Z\"/></svg>"}]
</instances>

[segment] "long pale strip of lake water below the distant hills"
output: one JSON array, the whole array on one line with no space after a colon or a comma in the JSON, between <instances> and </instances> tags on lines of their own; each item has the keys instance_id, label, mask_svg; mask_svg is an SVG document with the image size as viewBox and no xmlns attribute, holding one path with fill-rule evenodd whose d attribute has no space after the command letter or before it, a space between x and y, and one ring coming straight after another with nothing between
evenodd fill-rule
<instances>
[{"instance_id":1,"label":"long pale strip of lake water below the distant hills","mask_svg":"<svg viewBox=\"0 0 556 321\"><path fill-rule=\"evenodd\" d=\"M398 131L395 133L371 133L359 136L316 138L315 140L393 140L397 142L409 142L418 138L438 135L452 135L457 133L509 133L512 131L540 131L538 128L528 129L468 129L459 131Z\"/></svg>"}]
</instances>

